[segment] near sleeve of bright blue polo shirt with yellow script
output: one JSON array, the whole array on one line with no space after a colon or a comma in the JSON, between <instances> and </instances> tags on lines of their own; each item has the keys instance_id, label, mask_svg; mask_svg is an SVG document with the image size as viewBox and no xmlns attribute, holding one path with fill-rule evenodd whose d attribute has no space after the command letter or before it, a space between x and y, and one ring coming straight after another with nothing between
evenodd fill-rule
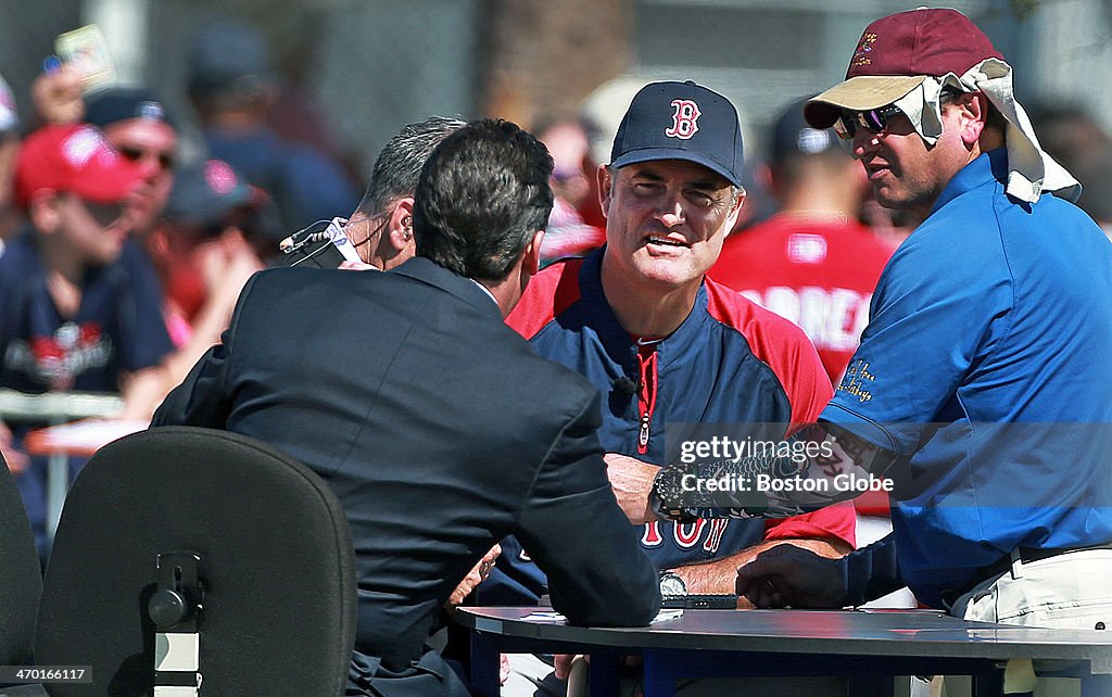
<instances>
[{"instance_id":1,"label":"near sleeve of bright blue polo shirt with yellow script","mask_svg":"<svg viewBox=\"0 0 1112 697\"><path fill-rule=\"evenodd\" d=\"M970 243L962 222L934 218L882 275L861 346L821 416L900 454L915 449L925 425L961 418L959 386L1006 332L1012 307L999 237Z\"/></svg>"}]
</instances>

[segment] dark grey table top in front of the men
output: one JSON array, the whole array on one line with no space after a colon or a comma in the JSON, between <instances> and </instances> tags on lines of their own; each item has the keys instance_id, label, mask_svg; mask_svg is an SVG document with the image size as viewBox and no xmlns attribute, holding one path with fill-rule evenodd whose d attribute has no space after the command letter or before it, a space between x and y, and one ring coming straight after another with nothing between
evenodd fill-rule
<instances>
[{"instance_id":1,"label":"dark grey table top in front of the men","mask_svg":"<svg viewBox=\"0 0 1112 697\"><path fill-rule=\"evenodd\" d=\"M1112 631L971 623L936 610L684 610L648 627L574 627L546 608L460 607L480 633L616 648L1089 660L1112 674ZM533 617L530 617L533 616Z\"/></svg>"}]
</instances>

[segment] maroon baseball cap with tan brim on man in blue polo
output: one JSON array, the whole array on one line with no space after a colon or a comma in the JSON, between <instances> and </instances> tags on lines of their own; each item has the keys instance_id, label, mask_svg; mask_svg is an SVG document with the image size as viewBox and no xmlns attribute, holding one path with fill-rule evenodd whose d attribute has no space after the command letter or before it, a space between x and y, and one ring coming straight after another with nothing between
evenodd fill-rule
<instances>
[{"instance_id":1,"label":"maroon baseball cap with tan brim on man in blue polo","mask_svg":"<svg viewBox=\"0 0 1112 697\"><path fill-rule=\"evenodd\" d=\"M1003 60L983 31L957 10L921 8L881 18L861 34L845 82L807 102L804 116L830 128L841 109L885 107L929 76L959 77L986 58Z\"/></svg>"}]
</instances>

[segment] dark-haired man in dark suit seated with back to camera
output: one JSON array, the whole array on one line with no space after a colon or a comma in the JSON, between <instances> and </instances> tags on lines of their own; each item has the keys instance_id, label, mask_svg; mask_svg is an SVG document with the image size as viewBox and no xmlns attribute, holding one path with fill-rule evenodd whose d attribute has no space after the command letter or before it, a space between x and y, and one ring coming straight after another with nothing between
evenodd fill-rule
<instances>
[{"instance_id":1,"label":"dark-haired man in dark suit seated with back to camera","mask_svg":"<svg viewBox=\"0 0 1112 697\"><path fill-rule=\"evenodd\" d=\"M643 625L659 605L606 479L598 390L503 323L538 268L552 167L513 123L449 136L418 182L417 258L256 275L155 415L259 438L336 491L359 576L349 695L466 694L424 644L509 534L573 623Z\"/></svg>"}]
</instances>

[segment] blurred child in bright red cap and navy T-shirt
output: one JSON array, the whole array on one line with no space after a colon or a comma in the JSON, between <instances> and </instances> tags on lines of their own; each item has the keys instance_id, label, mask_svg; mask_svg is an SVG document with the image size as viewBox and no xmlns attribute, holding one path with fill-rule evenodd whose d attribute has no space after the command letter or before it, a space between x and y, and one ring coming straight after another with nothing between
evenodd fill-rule
<instances>
[{"instance_id":1,"label":"blurred child in bright red cap and navy T-shirt","mask_svg":"<svg viewBox=\"0 0 1112 697\"><path fill-rule=\"evenodd\" d=\"M141 169L91 126L47 126L24 140L14 186L28 226L0 256L0 386L120 391L122 417L149 418L172 345L159 293L119 261ZM41 467L18 482L41 535Z\"/></svg>"}]
</instances>

